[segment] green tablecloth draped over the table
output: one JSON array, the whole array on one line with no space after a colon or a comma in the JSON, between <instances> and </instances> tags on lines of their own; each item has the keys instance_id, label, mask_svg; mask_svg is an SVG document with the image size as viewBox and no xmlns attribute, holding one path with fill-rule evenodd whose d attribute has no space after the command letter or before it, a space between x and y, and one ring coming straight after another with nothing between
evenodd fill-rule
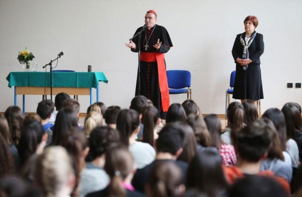
<instances>
[{"instance_id":1,"label":"green tablecloth draped over the table","mask_svg":"<svg viewBox=\"0 0 302 197\"><path fill-rule=\"evenodd\" d=\"M9 87L50 87L49 72L11 72L7 78ZM97 88L99 82L108 83L102 72L53 72L53 87Z\"/></svg>"}]
</instances>

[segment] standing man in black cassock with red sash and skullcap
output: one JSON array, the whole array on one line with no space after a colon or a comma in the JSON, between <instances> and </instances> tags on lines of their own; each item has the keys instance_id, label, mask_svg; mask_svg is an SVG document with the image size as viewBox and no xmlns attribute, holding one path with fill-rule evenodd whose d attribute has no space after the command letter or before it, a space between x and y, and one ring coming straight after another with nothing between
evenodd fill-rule
<instances>
[{"instance_id":1,"label":"standing man in black cassock with red sash and skullcap","mask_svg":"<svg viewBox=\"0 0 302 197\"><path fill-rule=\"evenodd\" d=\"M140 95L150 99L163 114L170 106L165 53L173 44L166 28L157 25L156 21L157 13L153 10L147 11L146 28L142 31L140 40ZM142 28L139 27L135 34ZM131 48L131 51L138 52L138 36L126 46ZM138 77L139 72L137 72L135 96L139 95Z\"/></svg>"}]
</instances>

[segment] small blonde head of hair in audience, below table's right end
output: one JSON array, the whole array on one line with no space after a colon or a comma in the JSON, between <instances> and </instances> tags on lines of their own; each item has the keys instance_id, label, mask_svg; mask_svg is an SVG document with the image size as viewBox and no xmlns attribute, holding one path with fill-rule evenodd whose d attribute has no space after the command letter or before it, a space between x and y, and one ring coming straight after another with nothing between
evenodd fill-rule
<instances>
[{"instance_id":1,"label":"small blonde head of hair in audience, below table's right end","mask_svg":"<svg viewBox=\"0 0 302 197\"><path fill-rule=\"evenodd\" d=\"M84 128L86 130L86 135L90 136L92 129L97 126L103 125L103 115L101 112L91 111L87 114L85 118Z\"/></svg>"}]
</instances>

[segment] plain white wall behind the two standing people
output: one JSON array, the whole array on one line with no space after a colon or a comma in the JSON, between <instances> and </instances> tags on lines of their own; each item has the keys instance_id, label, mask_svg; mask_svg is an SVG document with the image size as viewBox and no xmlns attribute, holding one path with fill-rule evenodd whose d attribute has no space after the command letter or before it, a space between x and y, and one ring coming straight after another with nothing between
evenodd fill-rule
<instances>
[{"instance_id":1,"label":"plain white wall behind the two standing people","mask_svg":"<svg viewBox=\"0 0 302 197\"><path fill-rule=\"evenodd\" d=\"M264 35L261 57L265 99L262 110L285 102L302 104L301 83L302 1L291 0L0 0L0 111L14 103L6 76L22 71L18 51L34 53L39 71L60 51L58 69L104 72L109 83L100 83L100 98L107 106L128 107L134 96L137 54L124 43L144 24L144 14L154 9L158 24L167 28L174 47L166 54L167 69L192 73L193 100L203 113L224 113L224 94L235 70L231 54L235 36L244 31L248 15L259 19L256 31ZM36 110L41 96L27 96L26 111ZM172 95L171 103L185 95ZM89 96L80 96L81 112ZM18 96L22 107L22 96Z\"/></svg>"}]
</instances>

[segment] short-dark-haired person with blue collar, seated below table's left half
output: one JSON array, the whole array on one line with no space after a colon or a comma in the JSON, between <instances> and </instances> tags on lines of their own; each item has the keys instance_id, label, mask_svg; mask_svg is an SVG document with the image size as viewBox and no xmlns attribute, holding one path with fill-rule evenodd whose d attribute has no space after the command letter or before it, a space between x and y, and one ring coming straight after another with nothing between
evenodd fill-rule
<instances>
[{"instance_id":1,"label":"short-dark-haired person with blue collar, seated below table's left half","mask_svg":"<svg viewBox=\"0 0 302 197\"><path fill-rule=\"evenodd\" d=\"M54 111L54 103L51 100L45 99L38 103L37 114L42 119L42 126L46 131L53 124L49 122L52 112Z\"/></svg>"}]
</instances>

